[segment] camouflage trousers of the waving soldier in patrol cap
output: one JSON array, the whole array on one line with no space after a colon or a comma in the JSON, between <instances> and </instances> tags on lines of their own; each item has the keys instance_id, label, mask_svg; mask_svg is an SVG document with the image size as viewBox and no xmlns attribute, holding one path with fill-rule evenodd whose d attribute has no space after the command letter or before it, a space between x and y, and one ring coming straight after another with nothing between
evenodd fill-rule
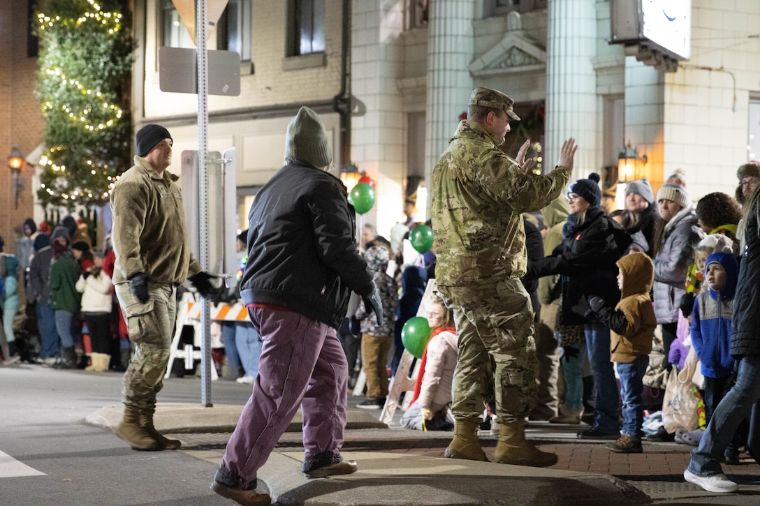
<instances>
[{"instance_id":1,"label":"camouflage trousers of the waving soldier in patrol cap","mask_svg":"<svg viewBox=\"0 0 760 506\"><path fill-rule=\"evenodd\" d=\"M524 419L536 403L538 362L533 308L521 281L438 288L457 325L454 418L478 419L495 396L499 422Z\"/></svg>"}]
</instances>

